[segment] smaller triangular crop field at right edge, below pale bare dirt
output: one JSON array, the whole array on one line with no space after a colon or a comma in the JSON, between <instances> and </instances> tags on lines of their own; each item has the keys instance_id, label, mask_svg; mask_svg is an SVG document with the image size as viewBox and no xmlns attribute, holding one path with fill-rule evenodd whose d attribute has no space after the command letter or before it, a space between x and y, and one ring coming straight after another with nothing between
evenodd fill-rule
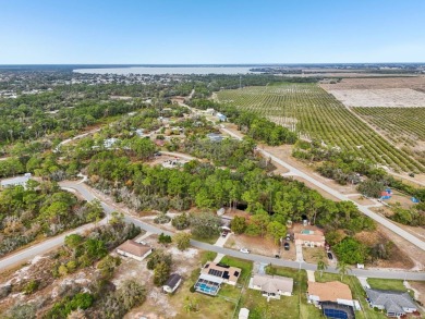
<instances>
[{"instance_id":1,"label":"smaller triangular crop field at right edge, below pale bare dirt","mask_svg":"<svg viewBox=\"0 0 425 319\"><path fill-rule=\"evenodd\" d=\"M425 108L353 108L392 143L416 146L425 142Z\"/></svg>"}]
</instances>

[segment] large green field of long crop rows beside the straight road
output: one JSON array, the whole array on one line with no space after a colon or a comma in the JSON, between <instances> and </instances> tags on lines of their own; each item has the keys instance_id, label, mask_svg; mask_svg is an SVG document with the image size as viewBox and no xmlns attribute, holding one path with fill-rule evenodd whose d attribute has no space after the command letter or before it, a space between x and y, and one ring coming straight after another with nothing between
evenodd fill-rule
<instances>
[{"instance_id":1,"label":"large green field of long crop rows beside the straight road","mask_svg":"<svg viewBox=\"0 0 425 319\"><path fill-rule=\"evenodd\" d=\"M394 170L425 171L424 165L394 148L316 84L245 87L221 90L217 97L220 102L258 112L295 130L300 137L320 139Z\"/></svg>"}]
</instances>

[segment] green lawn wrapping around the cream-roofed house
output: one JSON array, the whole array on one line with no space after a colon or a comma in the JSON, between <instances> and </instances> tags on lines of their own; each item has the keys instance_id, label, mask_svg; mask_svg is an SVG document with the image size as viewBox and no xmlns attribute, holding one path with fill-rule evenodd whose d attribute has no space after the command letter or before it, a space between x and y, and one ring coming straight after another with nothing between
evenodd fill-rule
<instances>
[{"instance_id":1,"label":"green lawn wrapping around the cream-roofed house","mask_svg":"<svg viewBox=\"0 0 425 319\"><path fill-rule=\"evenodd\" d=\"M307 273L304 270L274 267L274 271L277 275L293 278L293 295L281 296L280 300L271 299L267 303L267 298L263 297L259 291L246 289L240 307L251 310L250 318L324 318L319 309L307 304Z\"/></svg>"}]
</instances>

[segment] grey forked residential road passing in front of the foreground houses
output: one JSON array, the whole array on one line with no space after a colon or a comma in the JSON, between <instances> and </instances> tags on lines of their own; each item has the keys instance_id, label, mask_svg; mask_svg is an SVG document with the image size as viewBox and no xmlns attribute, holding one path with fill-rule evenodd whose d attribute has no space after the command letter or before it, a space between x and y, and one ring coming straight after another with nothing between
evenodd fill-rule
<instances>
[{"instance_id":1,"label":"grey forked residential road passing in front of the foreground houses","mask_svg":"<svg viewBox=\"0 0 425 319\"><path fill-rule=\"evenodd\" d=\"M86 200L93 200L97 198L94 195L93 189L90 189L88 186L81 184L80 182L64 182L61 183L61 186L65 189L72 188L78 192ZM101 201L101 206L105 209L105 212L107 217L117 209L109 206L108 204ZM139 226L141 229L153 233L153 234L160 234L165 233L167 235L172 235L172 233L163 231L155 225L145 223L132 216L125 214L124 219L126 222L132 222ZM101 222L105 223L107 221L107 218L105 218ZM16 253L12 256L5 257L3 259L0 259L0 269L4 269L7 267L11 267L13 265L22 263L37 255L41 255L63 243L63 240L66 235L70 233L76 233L76 232L83 232L87 229L93 228L94 224L87 224L84 225L77 230L74 230L72 232L69 232L66 234L57 236L54 238L51 238L49 241L42 242L40 244L34 245L31 248L24 249L20 253ZM192 246L204 249L204 250L210 250L216 251L218 254L223 254L236 258L243 258L252 261L258 261L264 263L272 263L276 266L282 266L282 267L290 267L295 269L305 269L305 270L316 270L316 265L307 263L307 262L298 262L298 261L291 261L291 260L283 260L283 259L276 259L272 257L266 257L260 255L253 255L253 254L243 254L238 250L232 250L223 247L214 246L210 244L197 242L197 241L191 241ZM329 267L327 269L327 272L333 272L337 273L337 270L332 267ZM362 269L353 269L351 271L351 274L361 275L361 277L368 277L368 278L384 278L384 279L403 279L403 280L421 280L425 281L425 273L423 272L410 272L410 271L388 271L388 270L362 270Z\"/></svg>"}]
</instances>

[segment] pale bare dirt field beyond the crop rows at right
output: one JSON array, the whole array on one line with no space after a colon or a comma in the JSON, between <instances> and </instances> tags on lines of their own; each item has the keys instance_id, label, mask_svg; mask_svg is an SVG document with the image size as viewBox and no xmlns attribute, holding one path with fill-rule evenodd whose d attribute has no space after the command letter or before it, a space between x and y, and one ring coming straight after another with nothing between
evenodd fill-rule
<instances>
[{"instance_id":1,"label":"pale bare dirt field beyond the crop rows at right","mask_svg":"<svg viewBox=\"0 0 425 319\"><path fill-rule=\"evenodd\" d=\"M328 93L347 107L425 107L425 94L411 88L330 89Z\"/></svg>"}]
</instances>

